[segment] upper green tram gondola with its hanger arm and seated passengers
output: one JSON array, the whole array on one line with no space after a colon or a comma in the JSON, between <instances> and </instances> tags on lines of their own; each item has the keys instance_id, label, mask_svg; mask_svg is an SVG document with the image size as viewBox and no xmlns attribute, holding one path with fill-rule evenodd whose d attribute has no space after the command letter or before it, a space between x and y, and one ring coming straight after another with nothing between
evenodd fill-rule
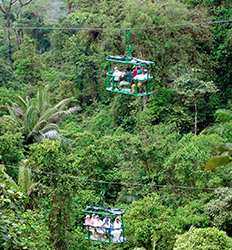
<instances>
[{"instance_id":1,"label":"upper green tram gondola with its hanger arm and seated passengers","mask_svg":"<svg viewBox=\"0 0 232 250\"><path fill-rule=\"evenodd\" d=\"M106 90L131 96L149 96L153 94L150 74L152 61L132 57L131 33L127 31L127 54L107 56L109 63L106 76Z\"/></svg>"}]
</instances>

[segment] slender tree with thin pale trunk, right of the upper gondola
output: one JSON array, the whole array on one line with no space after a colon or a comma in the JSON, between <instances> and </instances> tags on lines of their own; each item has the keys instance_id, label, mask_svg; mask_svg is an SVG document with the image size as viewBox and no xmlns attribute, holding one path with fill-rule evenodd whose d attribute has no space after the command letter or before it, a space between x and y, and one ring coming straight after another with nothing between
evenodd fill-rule
<instances>
[{"instance_id":1,"label":"slender tree with thin pale trunk, right of the upper gondola","mask_svg":"<svg viewBox=\"0 0 232 250\"><path fill-rule=\"evenodd\" d=\"M203 96L206 94L215 93L217 88L213 82L206 82L200 79L199 72L192 69L189 73L177 78L174 82L176 92L183 97L185 104L194 105L194 134L197 134L197 105Z\"/></svg>"}]
</instances>

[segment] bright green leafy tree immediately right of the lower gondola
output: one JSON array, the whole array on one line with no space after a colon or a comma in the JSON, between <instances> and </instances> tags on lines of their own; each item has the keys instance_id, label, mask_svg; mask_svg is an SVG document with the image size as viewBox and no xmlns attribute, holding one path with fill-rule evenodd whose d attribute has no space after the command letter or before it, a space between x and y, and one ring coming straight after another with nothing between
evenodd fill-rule
<instances>
[{"instance_id":1,"label":"bright green leafy tree immediately right of the lower gondola","mask_svg":"<svg viewBox=\"0 0 232 250\"><path fill-rule=\"evenodd\" d=\"M125 216L126 235L130 246L146 249L170 249L170 232L175 229L168 224L169 210L162 205L156 194L133 202Z\"/></svg>"}]
</instances>

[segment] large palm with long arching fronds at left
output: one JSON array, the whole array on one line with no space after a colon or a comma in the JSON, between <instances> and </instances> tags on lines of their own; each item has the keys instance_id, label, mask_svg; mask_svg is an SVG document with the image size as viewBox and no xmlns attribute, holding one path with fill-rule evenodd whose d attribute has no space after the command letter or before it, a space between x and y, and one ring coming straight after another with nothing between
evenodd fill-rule
<instances>
[{"instance_id":1,"label":"large palm with long arching fronds at left","mask_svg":"<svg viewBox=\"0 0 232 250\"><path fill-rule=\"evenodd\" d=\"M11 121L19 127L28 145L44 133L57 130L57 123L70 111L66 109L70 98L53 105L49 98L48 87L39 88L35 98L16 97L15 103L8 107Z\"/></svg>"}]
</instances>

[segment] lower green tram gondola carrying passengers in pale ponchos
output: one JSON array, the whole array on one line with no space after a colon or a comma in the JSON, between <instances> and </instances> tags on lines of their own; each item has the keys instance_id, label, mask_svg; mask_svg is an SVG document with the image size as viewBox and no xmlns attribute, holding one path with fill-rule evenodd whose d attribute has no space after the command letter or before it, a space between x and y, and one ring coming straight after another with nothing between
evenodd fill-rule
<instances>
[{"instance_id":1,"label":"lower green tram gondola carrying passengers in pale ponchos","mask_svg":"<svg viewBox=\"0 0 232 250\"><path fill-rule=\"evenodd\" d=\"M83 226L88 240L116 244L125 242L123 210L87 206L83 212Z\"/></svg>"}]
</instances>

